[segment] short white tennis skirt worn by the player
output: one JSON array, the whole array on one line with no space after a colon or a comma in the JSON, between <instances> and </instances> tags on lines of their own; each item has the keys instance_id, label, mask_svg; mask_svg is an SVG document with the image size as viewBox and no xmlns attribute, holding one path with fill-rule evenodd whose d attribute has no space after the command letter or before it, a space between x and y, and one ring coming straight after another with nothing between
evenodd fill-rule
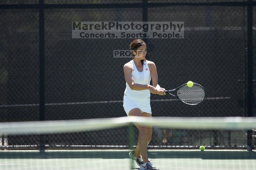
<instances>
[{"instance_id":1,"label":"short white tennis skirt worn by the player","mask_svg":"<svg viewBox=\"0 0 256 170\"><path fill-rule=\"evenodd\" d=\"M124 95L124 111L128 115L129 112L134 108L139 108L141 112L151 113L150 97L146 99L131 98Z\"/></svg>"}]
</instances>

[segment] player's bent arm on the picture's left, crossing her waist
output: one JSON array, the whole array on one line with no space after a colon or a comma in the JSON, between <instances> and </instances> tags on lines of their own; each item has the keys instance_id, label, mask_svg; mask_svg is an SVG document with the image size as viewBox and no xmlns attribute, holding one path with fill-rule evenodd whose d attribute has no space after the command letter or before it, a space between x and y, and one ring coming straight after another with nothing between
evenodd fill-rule
<instances>
[{"instance_id":1,"label":"player's bent arm on the picture's left, crossing her waist","mask_svg":"<svg viewBox=\"0 0 256 170\"><path fill-rule=\"evenodd\" d=\"M132 77L132 66L129 62L124 65L124 78L132 90L150 90L150 92L153 94L158 93L158 90L154 86L151 86L149 84L143 85L143 84L134 83L134 80Z\"/></svg>"}]
</instances>

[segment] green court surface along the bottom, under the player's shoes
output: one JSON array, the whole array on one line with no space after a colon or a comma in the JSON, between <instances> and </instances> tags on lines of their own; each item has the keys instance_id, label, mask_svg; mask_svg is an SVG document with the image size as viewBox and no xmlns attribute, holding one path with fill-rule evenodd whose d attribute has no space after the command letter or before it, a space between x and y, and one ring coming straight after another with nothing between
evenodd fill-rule
<instances>
[{"instance_id":1,"label":"green court surface along the bottom, under the player's shoes","mask_svg":"<svg viewBox=\"0 0 256 170\"><path fill-rule=\"evenodd\" d=\"M138 170L129 150L0 152L1 170ZM256 152L246 150L149 150L160 170L253 170Z\"/></svg>"}]
</instances>

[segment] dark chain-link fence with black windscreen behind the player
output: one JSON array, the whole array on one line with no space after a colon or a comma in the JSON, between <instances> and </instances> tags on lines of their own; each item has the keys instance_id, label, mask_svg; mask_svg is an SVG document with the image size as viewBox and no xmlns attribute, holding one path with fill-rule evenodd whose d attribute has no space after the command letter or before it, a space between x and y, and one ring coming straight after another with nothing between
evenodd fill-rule
<instances>
[{"instance_id":1,"label":"dark chain-link fence with black windscreen behind the player","mask_svg":"<svg viewBox=\"0 0 256 170\"><path fill-rule=\"evenodd\" d=\"M204 86L206 100L198 106L190 106L170 100L167 95L151 95L153 116L248 116L248 7L232 5L239 2L245 1L45 0L45 4L55 4L55 8L44 9L45 120L126 116L122 101L123 65L131 58L114 58L113 50L129 50L132 39L72 39L73 21L184 22L184 39L144 39L148 47L146 58L155 62L160 86L175 88L192 80ZM3 0L0 3L34 5L38 1ZM122 3L166 5L125 8L118 5ZM172 3L184 4L173 6ZM113 6L58 7L61 4ZM39 120L39 11L36 5L18 8L0 8L1 122ZM254 35L255 11L254 6ZM253 36L254 45L255 40ZM253 54L256 54L255 48ZM124 127L45 135L44 143L46 148L128 147L127 130ZM138 134L136 128L134 134ZM1 136L2 148L38 148L39 143L37 135ZM151 147L160 148L194 148L201 144L213 148L245 148L247 131L154 128L150 143ZM256 145L255 138L253 145Z\"/></svg>"}]
</instances>

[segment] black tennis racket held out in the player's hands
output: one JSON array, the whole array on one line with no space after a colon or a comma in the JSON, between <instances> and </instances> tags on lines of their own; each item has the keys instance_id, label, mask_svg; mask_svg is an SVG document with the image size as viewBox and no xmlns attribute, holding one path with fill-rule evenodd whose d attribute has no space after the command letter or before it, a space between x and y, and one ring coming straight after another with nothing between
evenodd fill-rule
<instances>
[{"instance_id":1,"label":"black tennis racket held out in the player's hands","mask_svg":"<svg viewBox=\"0 0 256 170\"><path fill-rule=\"evenodd\" d=\"M165 93L168 93L189 105L201 103L205 96L203 86L197 83L193 83L192 87L189 87L187 84L182 84L176 89L166 90Z\"/></svg>"}]
</instances>

